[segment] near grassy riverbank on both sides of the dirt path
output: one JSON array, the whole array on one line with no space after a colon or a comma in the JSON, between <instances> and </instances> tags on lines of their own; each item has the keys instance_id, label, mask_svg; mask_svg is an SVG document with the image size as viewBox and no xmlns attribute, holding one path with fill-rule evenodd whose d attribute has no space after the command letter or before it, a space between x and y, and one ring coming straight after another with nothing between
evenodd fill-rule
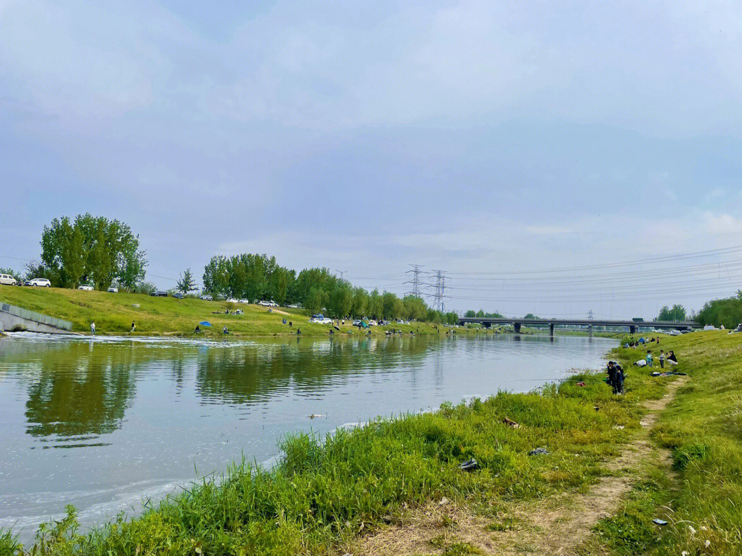
<instances>
[{"instance_id":1,"label":"near grassy riverbank on both sides of the dirt path","mask_svg":"<svg viewBox=\"0 0 742 556\"><path fill-rule=\"evenodd\" d=\"M683 520L695 523L696 532L701 526L709 532L715 552L703 553L737 554L741 546L734 505L741 493L742 335L699 332L663 337L663 343L676 351L689 382L657 413L647 442L672 448L680 476L666 481L667 471L642 463L637 478L631 475L634 491L622 499L623 510L598 524L601 535L587 529L582 540L589 552L582 553L664 554L677 548L668 553L680 554L682 546L700 539ZM637 350L617 354L624 363L640 358ZM349 547L362 550L366 545L359 539L408 525L409 512L456 506L463 509L460 525L441 514L427 552L473 552L479 545L464 539L465 516L476 517L481 538L509 534L528 527L513 504L573 498L605 477L623 474L611 462L646 430L642 421L651 409L645 404L660 403L668 384L678 380L627 369L623 397L614 397L600 375L581 374L540 394L444 404L436 414L341 430L322 444L293 437L270 472L243 464L223 483L207 480L134 520L70 538L65 536L70 518L41 542L50 554L156 554L168 546L171 554L343 554ZM537 448L548 453L529 455ZM479 468L460 470L459 463L470 457ZM655 526L651 519L657 516L671 525ZM0 540L0 547L11 551L9 538Z\"/></svg>"}]
</instances>

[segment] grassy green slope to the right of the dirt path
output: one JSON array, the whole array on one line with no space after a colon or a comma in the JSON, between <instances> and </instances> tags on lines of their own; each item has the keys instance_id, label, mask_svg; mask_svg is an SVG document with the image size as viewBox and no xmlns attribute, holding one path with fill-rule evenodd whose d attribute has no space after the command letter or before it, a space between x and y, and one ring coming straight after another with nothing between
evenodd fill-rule
<instances>
[{"instance_id":1,"label":"grassy green slope to the right of the dirt path","mask_svg":"<svg viewBox=\"0 0 742 556\"><path fill-rule=\"evenodd\" d=\"M597 528L617 555L742 554L742 334L662 337L689 374L653 439L672 454L677 480L651 469L616 516ZM653 353L657 351L652 349ZM639 351L619 350L623 360ZM663 380L663 379L660 379ZM665 379L666 380L666 379ZM651 523L655 517L669 525ZM706 541L709 541L706 546Z\"/></svg>"}]
</instances>

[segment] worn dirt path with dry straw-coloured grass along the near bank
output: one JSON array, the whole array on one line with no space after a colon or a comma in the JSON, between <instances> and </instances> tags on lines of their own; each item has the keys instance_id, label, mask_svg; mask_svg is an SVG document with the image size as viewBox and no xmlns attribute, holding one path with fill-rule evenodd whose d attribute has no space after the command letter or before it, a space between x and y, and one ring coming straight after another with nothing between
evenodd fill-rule
<instances>
[{"instance_id":1,"label":"worn dirt path with dry straw-coloured grass along the near bank","mask_svg":"<svg viewBox=\"0 0 742 556\"><path fill-rule=\"evenodd\" d=\"M645 403L649 413L641 420L642 431L618 457L606 463L611 476L603 477L587 494L565 492L510 506L507 520L499 527L505 529L502 531L491 531L493 521L476 516L466 506L442 500L407 511L398 525L361 538L345 552L352 556L439 555L444 546L457 542L492 555L572 554L599 520L619 508L638 476L640 461L654 459L669 465L669 454L649 442L649 430L686 379L678 377L669 383L664 397Z\"/></svg>"}]
</instances>

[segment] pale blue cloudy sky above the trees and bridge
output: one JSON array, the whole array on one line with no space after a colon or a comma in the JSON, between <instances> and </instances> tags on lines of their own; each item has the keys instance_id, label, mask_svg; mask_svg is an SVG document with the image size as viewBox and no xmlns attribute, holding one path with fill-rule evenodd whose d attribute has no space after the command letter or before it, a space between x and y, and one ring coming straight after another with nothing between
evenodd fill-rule
<instances>
[{"instance_id":1,"label":"pale blue cloudy sky above the trees and bridge","mask_svg":"<svg viewBox=\"0 0 742 556\"><path fill-rule=\"evenodd\" d=\"M444 270L456 310L698 309L742 286L708 253L742 245L742 4L0 0L0 266L85 212L163 288L260 252Z\"/></svg>"}]
</instances>

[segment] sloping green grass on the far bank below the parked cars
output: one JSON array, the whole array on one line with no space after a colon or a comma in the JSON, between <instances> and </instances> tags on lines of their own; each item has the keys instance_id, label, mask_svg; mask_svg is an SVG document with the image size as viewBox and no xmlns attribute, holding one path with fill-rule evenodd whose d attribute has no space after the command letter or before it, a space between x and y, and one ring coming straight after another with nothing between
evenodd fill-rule
<instances>
[{"instance_id":1,"label":"sloping green grass on the far bank below the parked cars","mask_svg":"<svg viewBox=\"0 0 742 556\"><path fill-rule=\"evenodd\" d=\"M69 320L73 323L73 331L77 332L88 333L94 320L97 334L128 334L132 321L137 323L137 334L193 334L197 323L206 320L213 325L211 328L201 327L206 337L220 337L224 325L231 334L238 336L295 334L298 327L301 327L303 335L326 336L330 328L328 325L310 324L309 317L301 310L279 308L279 311L288 313L285 315L269 313L268 308L260 305L227 304L191 297L175 299L125 292L109 294L105 291L0 286L0 302ZM230 311L240 308L245 314L223 314L228 306ZM222 314L211 314L211 311L221 311ZM284 325L284 318L292 321L294 327ZM420 334L439 334L427 323L395 324L393 327L406 333L414 330ZM384 334L385 328L393 327L371 327L370 330L372 334ZM352 328L349 321L341 328L341 334L366 333ZM446 329L439 328L444 334ZM466 334L463 328L459 331Z\"/></svg>"}]
</instances>

